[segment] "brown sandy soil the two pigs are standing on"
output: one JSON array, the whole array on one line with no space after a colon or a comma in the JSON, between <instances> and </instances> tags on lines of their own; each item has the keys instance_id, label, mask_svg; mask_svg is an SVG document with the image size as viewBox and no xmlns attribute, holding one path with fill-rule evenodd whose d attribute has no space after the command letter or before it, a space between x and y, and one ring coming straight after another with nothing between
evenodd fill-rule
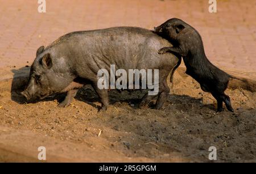
<instances>
[{"instance_id":1,"label":"brown sandy soil the two pigs are standing on","mask_svg":"<svg viewBox=\"0 0 256 174\"><path fill-rule=\"evenodd\" d=\"M47 162L212 162L210 146L216 162L256 162L256 92L226 90L236 112L216 113L216 100L179 70L163 109L138 108L144 91L110 91L109 110L97 112L90 86L67 108L57 107L64 95L24 103L28 71L0 82L1 162L38 162L39 146Z\"/></svg>"}]
</instances>

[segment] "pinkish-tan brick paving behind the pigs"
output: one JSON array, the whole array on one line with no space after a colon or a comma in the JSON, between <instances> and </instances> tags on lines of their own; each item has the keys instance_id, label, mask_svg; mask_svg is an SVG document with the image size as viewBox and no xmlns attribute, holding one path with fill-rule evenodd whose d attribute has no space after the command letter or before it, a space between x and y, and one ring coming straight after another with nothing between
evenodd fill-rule
<instances>
[{"instance_id":1,"label":"pinkish-tan brick paving behind the pigs","mask_svg":"<svg viewBox=\"0 0 256 174\"><path fill-rule=\"evenodd\" d=\"M36 49L67 32L138 26L152 29L181 18L203 37L210 61L219 67L256 72L256 1L217 0L210 14L208 0L0 0L0 80L11 70L31 65Z\"/></svg>"}]
</instances>

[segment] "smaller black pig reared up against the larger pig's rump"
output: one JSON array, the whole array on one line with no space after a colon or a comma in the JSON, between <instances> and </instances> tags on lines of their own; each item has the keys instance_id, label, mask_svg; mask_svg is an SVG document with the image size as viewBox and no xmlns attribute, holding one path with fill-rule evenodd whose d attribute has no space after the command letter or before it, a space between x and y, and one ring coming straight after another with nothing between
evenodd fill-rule
<instances>
[{"instance_id":1,"label":"smaller black pig reared up against the larger pig's rump","mask_svg":"<svg viewBox=\"0 0 256 174\"><path fill-rule=\"evenodd\" d=\"M177 53L183 57L186 73L200 83L201 89L210 92L217 100L217 112L222 111L222 103L230 112L234 112L230 98L224 91L228 87L229 78L236 78L214 66L205 56L204 45L199 32L183 20L172 18L159 27L155 32L169 40L174 46L159 50L159 54ZM243 80L242 80L243 81Z\"/></svg>"}]
</instances>

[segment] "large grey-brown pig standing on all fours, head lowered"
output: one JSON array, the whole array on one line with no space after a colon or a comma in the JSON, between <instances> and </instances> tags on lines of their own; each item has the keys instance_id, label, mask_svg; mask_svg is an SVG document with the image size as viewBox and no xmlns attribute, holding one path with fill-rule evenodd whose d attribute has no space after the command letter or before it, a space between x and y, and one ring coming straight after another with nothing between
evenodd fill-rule
<instances>
[{"instance_id":1,"label":"large grey-brown pig standing on all fours, head lowered","mask_svg":"<svg viewBox=\"0 0 256 174\"><path fill-rule=\"evenodd\" d=\"M43 99L53 93L67 92L60 107L69 105L79 88L91 84L100 97L102 109L109 105L108 90L97 86L101 69L159 69L159 93L156 109L160 109L170 91L167 76L179 66L181 57L159 55L158 50L171 44L154 32L137 27L113 27L78 31L61 36L36 52L30 78L22 95L28 101ZM172 78L172 75L171 75ZM154 95L144 95L141 105Z\"/></svg>"}]
</instances>

